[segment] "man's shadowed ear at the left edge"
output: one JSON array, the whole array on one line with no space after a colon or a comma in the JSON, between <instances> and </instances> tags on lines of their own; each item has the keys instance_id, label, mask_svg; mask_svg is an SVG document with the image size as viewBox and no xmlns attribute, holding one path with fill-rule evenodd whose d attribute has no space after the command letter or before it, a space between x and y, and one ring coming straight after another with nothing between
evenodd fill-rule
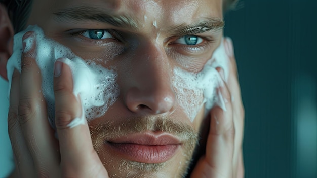
<instances>
[{"instance_id":1,"label":"man's shadowed ear at the left edge","mask_svg":"<svg viewBox=\"0 0 317 178\"><path fill-rule=\"evenodd\" d=\"M8 80L7 62L13 52L14 30L7 8L0 3L0 75Z\"/></svg>"}]
</instances>

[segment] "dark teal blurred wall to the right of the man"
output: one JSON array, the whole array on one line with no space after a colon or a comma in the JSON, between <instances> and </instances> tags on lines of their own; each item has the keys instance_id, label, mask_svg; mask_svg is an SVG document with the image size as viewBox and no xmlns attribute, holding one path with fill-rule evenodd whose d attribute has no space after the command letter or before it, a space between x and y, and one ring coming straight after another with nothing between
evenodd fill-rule
<instances>
[{"instance_id":1,"label":"dark teal blurred wall to the right of the man","mask_svg":"<svg viewBox=\"0 0 317 178\"><path fill-rule=\"evenodd\" d=\"M316 7L240 0L225 16L246 110L246 178L317 177Z\"/></svg>"}]
</instances>

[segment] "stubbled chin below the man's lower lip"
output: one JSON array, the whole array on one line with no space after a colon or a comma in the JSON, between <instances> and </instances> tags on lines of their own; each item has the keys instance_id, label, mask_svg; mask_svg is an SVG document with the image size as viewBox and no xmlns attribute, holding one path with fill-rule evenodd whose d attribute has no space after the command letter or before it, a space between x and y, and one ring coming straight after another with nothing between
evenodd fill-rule
<instances>
[{"instance_id":1,"label":"stubbled chin below the man's lower lip","mask_svg":"<svg viewBox=\"0 0 317 178\"><path fill-rule=\"evenodd\" d=\"M188 153L185 151L186 149L179 146L175 152L172 151L171 155L168 155L168 158L164 154L163 158L160 155L153 158L153 155L146 153L149 154L147 159L142 156L131 159L125 153L122 154L120 151L106 148L107 146L104 149L99 148L98 155L110 177L186 177L193 154L193 151ZM132 153L132 155L135 155L135 153ZM136 161L138 159L142 162ZM153 159L155 163L153 163Z\"/></svg>"}]
</instances>

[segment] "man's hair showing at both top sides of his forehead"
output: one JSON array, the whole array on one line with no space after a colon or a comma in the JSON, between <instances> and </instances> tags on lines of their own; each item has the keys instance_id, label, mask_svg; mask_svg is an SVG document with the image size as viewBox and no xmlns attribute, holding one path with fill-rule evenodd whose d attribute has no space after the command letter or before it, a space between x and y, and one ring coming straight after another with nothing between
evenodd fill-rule
<instances>
[{"instance_id":1,"label":"man's hair showing at both top sides of his forehead","mask_svg":"<svg viewBox=\"0 0 317 178\"><path fill-rule=\"evenodd\" d=\"M239 0L223 0L223 12L226 13L235 8ZM8 9L8 14L15 33L25 28L29 12L32 8L32 0L0 0L0 3Z\"/></svg>"}]
</instances>

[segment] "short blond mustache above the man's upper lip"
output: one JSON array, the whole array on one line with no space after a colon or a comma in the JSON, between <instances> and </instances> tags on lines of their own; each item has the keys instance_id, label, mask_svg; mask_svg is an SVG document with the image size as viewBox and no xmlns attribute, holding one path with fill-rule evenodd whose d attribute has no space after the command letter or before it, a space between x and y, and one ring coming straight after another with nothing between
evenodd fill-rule
<instances>
[{"instance_id":1,"label":"short blond mustache above the man's upper lip","mask_svg":"<svg viewBox=\"0 0 317 178\"><path fill-rule=\"evenodd\" d=\"M172 134L181 142L186 142L187 146L192 147L188 148L191 150L197 144L199 135L192 126L166 116L114 118L89 127L95 149L109 139L129 137L134 133L152 131Z\"/></svg>"}]
</instances>

